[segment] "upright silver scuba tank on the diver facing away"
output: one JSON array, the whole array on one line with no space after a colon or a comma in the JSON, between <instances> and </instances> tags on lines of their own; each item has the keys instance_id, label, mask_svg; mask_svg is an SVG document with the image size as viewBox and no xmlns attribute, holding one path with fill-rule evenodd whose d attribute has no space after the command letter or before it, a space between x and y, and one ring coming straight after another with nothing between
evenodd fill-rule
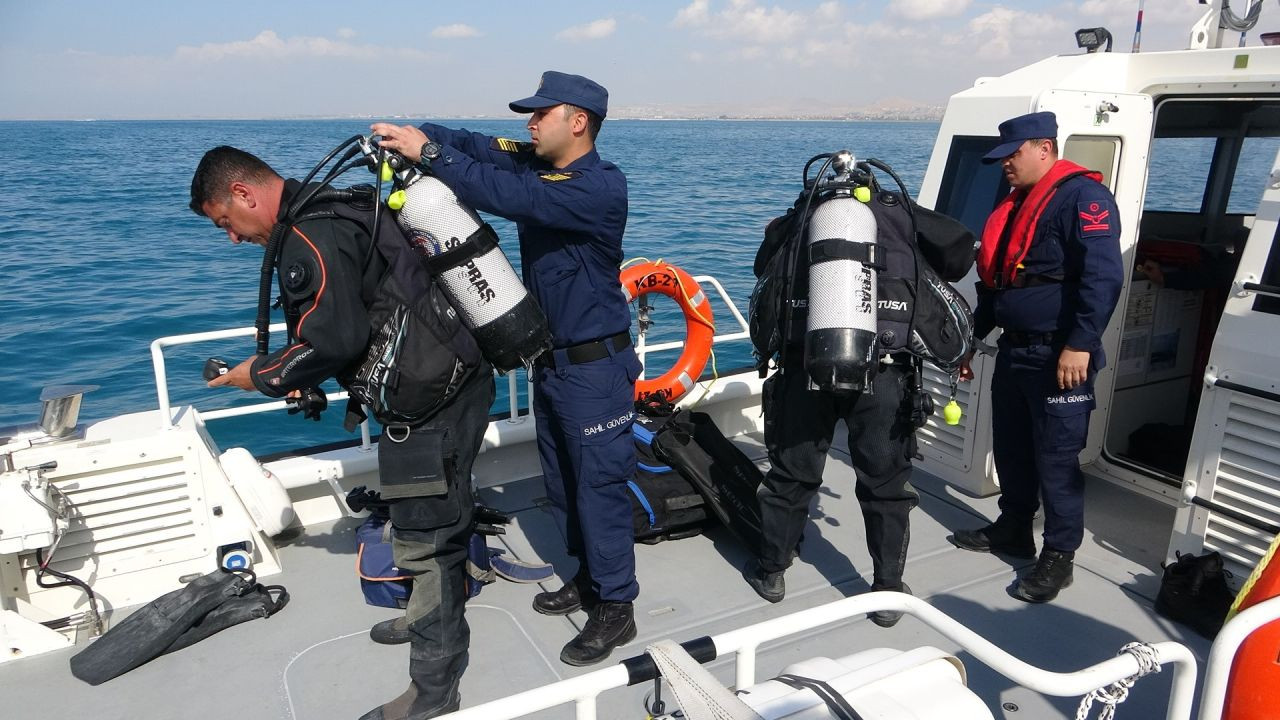
<instances>
[{"instance_id":1,"label":"upright silver scuba tank on the diver facing away","mask_svg":"<svg viewBox=\"0 0 1280 720\"><path fill-rule=\"evenodd\" d=\"M835 156L837 182L854 159ZM863 188L859 188L863 190ZM854 191L840 188L809 219L809 324L804 366L813 387L863 392L876 374L876 215Z\"/></svg>"}]
</instances>

